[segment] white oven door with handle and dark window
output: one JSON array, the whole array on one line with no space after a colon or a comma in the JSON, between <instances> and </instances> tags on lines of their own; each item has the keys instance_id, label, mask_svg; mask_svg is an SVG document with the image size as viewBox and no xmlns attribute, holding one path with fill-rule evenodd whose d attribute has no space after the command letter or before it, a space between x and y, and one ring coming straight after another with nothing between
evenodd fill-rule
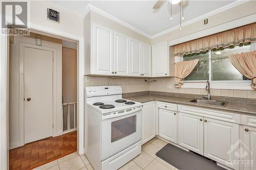
<instances>
[{"instance_id":1,"label":"white oven door with handle and dark window","mask_svg":"<svg viewBox=\"0 0 256 170\"><path fill-rule=\"evenodd\" d=\"M142 138L141 107L119 112L102 116L102 161L130 147Z\"/></svg>"}]
</instances>

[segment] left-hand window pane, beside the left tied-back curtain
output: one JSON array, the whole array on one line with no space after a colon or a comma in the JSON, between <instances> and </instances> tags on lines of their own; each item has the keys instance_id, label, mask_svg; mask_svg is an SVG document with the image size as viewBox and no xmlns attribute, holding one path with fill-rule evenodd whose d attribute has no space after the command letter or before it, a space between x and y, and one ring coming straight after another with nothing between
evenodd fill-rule
<instances>
[{"instance_id":1,"label":"left-hand window pane, beside the left tied-back curtain","mask_svg":"<svg viewBox=\"0 0 256 170\"><path fill-rule=\"evenodd\" d=\"M197 66L184 80L209 80L208 53L193 56L183 56L183 61L199 59Z\"/></svg>"}]
</instances>

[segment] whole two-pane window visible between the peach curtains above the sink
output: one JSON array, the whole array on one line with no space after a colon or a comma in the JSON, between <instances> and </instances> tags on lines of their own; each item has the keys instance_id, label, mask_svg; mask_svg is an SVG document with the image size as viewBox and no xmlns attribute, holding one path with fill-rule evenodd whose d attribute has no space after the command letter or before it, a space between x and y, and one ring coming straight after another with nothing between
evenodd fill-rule
<instances>
[{"instance_id":1,"label":"whole two-pane window visible between the peach curtains above the sink","mask_svg":"<svg viewBox=\"0 0 256 170\"><path fill-rule=\"evenodd\" d=\"M229 61L229 56L237 53L250 52L251 45L234 46L222 50L213 50L205 54L183 56L183 61L199 59L197 66L187 76L185 81L243 81L249 80L243 76Z\"/></svg>"}]
</instances>

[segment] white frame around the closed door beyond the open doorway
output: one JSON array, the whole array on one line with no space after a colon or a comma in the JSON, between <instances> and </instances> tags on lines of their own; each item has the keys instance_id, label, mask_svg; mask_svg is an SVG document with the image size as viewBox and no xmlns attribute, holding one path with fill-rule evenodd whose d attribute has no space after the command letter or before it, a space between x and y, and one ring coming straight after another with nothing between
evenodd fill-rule
<instances>
[{"instance_id":1,"label":"white frame around the closed door beyond the open doorway","mask_svg":"<svg viewBox=\"0 0 256 170\"><path fill-rule=\"evenodd\" d=\"M25 82L24 82L24 48L32 47L39 50L46 50L53 52L53 84L52 84L52 135L59 135L56 132L56 124L57 124L57 50L56 48L50 48L47 46L39 46L34 44L29 44L25 42L19 42L19 141L20 146L25 144L25 117L24 117L24 98L25 98Z\"/></svg>"}]
</instances>

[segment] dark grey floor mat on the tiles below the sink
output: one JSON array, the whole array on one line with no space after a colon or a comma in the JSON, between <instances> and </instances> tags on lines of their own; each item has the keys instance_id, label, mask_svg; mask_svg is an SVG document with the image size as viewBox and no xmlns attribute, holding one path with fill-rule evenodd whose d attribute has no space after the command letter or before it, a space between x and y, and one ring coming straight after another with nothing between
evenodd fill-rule
<instances>
[{"instance_id":1,"label":"dark grey floor mat on the tiles below the sink","mask_svg":"<svg viewBox=\"0 0 256 170\"><path fill-rule=\"evenodd\" d=\"M179 170L226 170L170 143L166 144L156 155Z\"/></svg>"}]
</instances>

